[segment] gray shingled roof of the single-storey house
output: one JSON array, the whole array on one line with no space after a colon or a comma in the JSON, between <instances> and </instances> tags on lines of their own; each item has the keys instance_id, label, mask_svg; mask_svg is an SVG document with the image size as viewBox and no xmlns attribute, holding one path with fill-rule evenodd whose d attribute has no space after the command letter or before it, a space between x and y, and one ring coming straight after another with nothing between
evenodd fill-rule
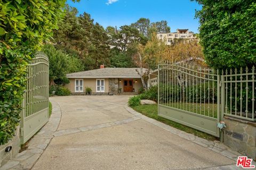
<instances>
[{"instance_id":1,"label":"gray shingled roof of the single-storey house","mask_svg":"<svg viewBox=\"0 0 256 170\"><path fill-rule=\"evenodd\" d=\"M104 68L67 74L67 78L140 78L138 68ZM143 69L146 71L146 69Z\"/></svg>"}]
</instances>

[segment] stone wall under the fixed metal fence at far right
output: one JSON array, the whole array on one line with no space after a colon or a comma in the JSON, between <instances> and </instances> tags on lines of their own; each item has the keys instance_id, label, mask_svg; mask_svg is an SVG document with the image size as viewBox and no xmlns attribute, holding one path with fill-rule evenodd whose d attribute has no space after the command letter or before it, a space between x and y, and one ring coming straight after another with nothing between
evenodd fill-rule
<instances>
[{"instance_id":1,"label":"stone wall under the fixed metal fence at far right","mask_svg":"<svg viewBox=\"0 0 256 170\"><path fill-rule=\"evenodd\" d=\"M224 117L227 126L223 134L223 142L228 147L256 160L256 123Z\"/></svg>"}]
</instances>

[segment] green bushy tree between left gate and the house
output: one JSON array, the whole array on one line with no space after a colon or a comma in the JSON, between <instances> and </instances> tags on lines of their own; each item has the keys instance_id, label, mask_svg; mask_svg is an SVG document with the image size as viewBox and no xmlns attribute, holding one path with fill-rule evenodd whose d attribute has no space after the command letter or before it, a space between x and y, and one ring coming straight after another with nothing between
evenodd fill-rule
<instances>
[{"instance_id":1,"label":"green bushy tree between left gate and the house","mask_svg":"<svg viewBox=\"0 0 256 170\"><path fill-rule=\"evenodd\" d=\"M51 84L69 83L66 78L67 73L83 71L83 64L76 56L69 56L62 50L55 49L51 44L46 44L43 47L43 52L49 56L49 81Z\"/></svg>"}]
</instances>

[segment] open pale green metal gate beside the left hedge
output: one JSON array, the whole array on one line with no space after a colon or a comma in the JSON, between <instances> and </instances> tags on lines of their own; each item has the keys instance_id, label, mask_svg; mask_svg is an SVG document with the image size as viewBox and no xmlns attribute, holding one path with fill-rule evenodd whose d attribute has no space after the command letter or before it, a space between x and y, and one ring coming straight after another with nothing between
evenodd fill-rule
<instances>
[{"instance_id":1,"label":"open pale green metal gate beside the left hedge","mask_svg":"<svg viewBox=\"0 0 256 170\"><path fill-rule=\"evenodd\" d=\"M49 60L42 52L28 65L27 89L21 112L21 144L28 141L49 119Z\"/></svg>"}]
</instances>

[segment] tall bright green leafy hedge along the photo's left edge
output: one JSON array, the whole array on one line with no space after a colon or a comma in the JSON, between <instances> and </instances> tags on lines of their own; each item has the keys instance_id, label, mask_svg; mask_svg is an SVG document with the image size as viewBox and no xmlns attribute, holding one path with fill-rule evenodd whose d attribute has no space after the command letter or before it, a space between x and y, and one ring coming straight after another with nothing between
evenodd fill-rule
<instances>
[{"instance_id":1,"label":"tall bright green leafy hedge along the photo's left edge","mask_svg":"<svg viewBox=\"0 0 256 170\"><path fill-rule=\"evenodd\" d=\"M64 0L0 0L0 143L19 123L26 66L62 16Z\"/></svg>"}]
</instances>

